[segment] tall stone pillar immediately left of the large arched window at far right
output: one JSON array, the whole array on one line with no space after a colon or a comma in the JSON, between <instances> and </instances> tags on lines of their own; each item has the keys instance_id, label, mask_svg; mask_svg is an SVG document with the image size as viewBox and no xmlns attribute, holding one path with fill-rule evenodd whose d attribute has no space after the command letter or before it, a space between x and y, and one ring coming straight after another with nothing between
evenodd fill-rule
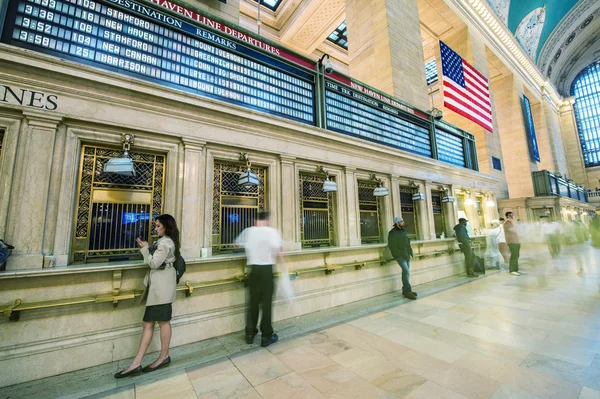
<instances>
[{"instance_id":1,"label":"tall stone pillar immediately left of the large arched window at far right","mask_svg":"<svg viewBox=\"0 0 600 399\"><path fill-rule=\"evenodd\" d=\"M560 107L560 125L563 133L565 148L567 150L567 160L569 165L569 178L575 180L577 184L589 186L585 171L585 162L581 152L581 142L577 131L575 121L575 112L573 109L574 99L570 98ZM594 184L592 186L595 187Z\"/></svg>"}]
</instances>

